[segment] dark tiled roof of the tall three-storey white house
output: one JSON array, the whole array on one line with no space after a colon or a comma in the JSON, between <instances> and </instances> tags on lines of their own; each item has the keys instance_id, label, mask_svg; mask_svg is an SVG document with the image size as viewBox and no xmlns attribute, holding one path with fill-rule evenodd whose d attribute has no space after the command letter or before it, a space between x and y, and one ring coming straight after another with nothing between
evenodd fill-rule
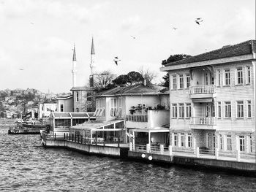
<instances>
[{"instance_id":1,"label":"dark tiled roof of the tall three-storey white house","mask_svg":"<svg viewBox=\"0 0 256 192\"><path fill-rule=\"evenodd\" d=\"M177 65L177 64L189 64L200 61L209 61L218 58L229 58L239 55L248 55L256 52L256 42L255 40L249 40L246 42L241 42L236 45L226 45L218 50L213 50L200 55L195 55L190 58L184 58L179 61L171 62L165 66Z\"/></svg>"}]
</instances>

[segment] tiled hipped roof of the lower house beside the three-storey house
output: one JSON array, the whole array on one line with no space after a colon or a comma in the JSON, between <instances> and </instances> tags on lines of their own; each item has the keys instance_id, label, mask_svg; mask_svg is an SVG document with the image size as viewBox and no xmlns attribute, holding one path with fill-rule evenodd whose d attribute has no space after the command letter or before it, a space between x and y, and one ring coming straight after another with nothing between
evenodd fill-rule
<instances>
[{"instance_id":1,"label":"tiled hipped roof of the lower house beside the three-storey house","mask_svg":"<svg viewBox=\"0 0 256 192\"><path fill-rule=\"evenodd\" d=\"M96 96L114 96L114 95L154 95L159 93L164 87L160 85L143 85L142 83L130 85L127 87L112 88L107 91L97 93Z\"/></svg>"}]
</instances>

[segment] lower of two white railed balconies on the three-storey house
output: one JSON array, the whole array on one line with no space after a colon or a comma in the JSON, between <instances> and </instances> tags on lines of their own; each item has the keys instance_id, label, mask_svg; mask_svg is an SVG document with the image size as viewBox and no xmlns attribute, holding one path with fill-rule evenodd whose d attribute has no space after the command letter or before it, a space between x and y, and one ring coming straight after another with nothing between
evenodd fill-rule
<instances>
[{"instance_id":1,"label":"lower of two white railed balconies on the three-storey house","mask_svg":"<svg viewBox=\"0 0 256 192\"><path fill-rule=\"evenodd\" d=\"M190 118L189 127L194 129L216 129L216 118L214 117Z\"/></svg>"}]
</instances>

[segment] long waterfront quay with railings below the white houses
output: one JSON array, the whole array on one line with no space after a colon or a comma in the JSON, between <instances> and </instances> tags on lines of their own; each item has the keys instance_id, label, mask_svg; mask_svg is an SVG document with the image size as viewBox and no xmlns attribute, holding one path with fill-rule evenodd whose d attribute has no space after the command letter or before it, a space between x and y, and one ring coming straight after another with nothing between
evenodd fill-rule
<instances>
[{"instance_id":1,"label":"long waterfront quay with railings below the white houses","mask_svg":"<svg viewBox=\"0 0 256 192\"><path fill-rule=\"evenodd\" d=\"M216 158L216 155L196 153L181 153L173 152L171 147L169 149L165 147L159 147L159 150L150 150L148 147L133 147L132 143L104 143L89 141L82 136L75 137L74 135L64 134L64 137L49 137L43 134L42 144L45 147L62 147L69 150L75 150L80 153L86 153L91 155L103 155L113 158L129 159L134 161L144 161L151 163L189 166L189 167L204 167L208 169L227 170L230 172L242 172L249 175L256 175L256 163L254 159L241 158L236 161L236 158Z\"/></svg>"}]
</instances>

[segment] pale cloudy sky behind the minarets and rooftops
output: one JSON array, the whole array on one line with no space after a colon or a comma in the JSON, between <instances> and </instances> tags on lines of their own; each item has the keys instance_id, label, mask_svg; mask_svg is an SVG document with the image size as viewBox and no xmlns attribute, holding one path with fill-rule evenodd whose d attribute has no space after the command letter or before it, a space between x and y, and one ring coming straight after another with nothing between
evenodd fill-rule
<instances>
[{"instance_id":1,"label":"pale cloudy sky behind the minarets and rooftops","mask_svg":"<svg viewBox=\"0 0 256 192\"><path fill-rule=\"evenodd\" d=\"M77 85L88 85L92 37L96 72L143 67L159 83L170 55L255 39L255 0L0 0L0 90L69 92L74 44Z\"/></svg>"}]
</instances>

